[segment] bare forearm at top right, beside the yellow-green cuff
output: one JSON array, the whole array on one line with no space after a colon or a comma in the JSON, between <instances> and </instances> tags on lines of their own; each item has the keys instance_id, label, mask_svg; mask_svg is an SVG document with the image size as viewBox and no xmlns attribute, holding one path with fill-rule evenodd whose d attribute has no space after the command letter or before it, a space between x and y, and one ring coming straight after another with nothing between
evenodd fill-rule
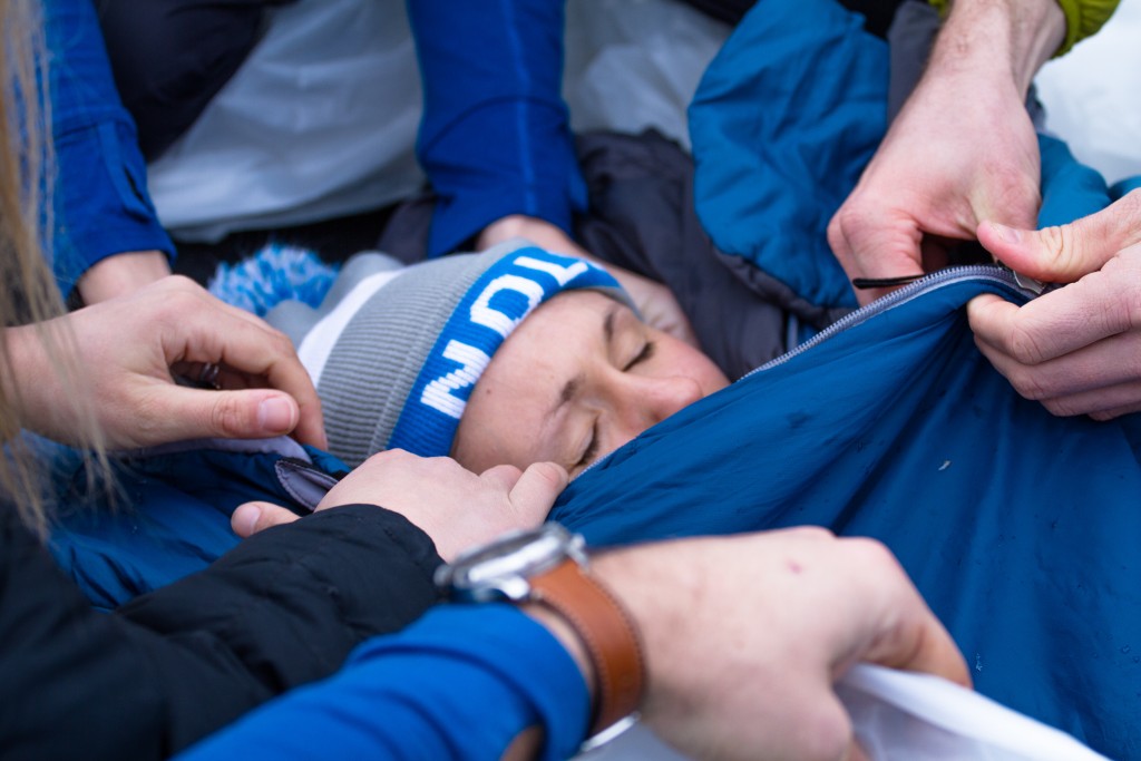
<instances>
[{"instance_id":1,"label":"bare forearm at top right, beside the yellow-green cuff","mask_svg":"<svg viewBox=\"0 0 1141 761\"><path fill-rule=\"evenodd\" d=\"M924 79L1009 78L1023 97L1065 35L1066 17L1055 0L955 0Z\"/></svg>"}]
</instances>

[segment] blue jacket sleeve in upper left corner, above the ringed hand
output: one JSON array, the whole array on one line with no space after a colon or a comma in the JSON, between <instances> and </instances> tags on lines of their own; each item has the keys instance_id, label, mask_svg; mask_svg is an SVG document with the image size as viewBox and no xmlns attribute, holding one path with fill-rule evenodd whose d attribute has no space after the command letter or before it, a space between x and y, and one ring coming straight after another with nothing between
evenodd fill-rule
<instances>
[{"instance_id":1,"label":"blue jacket sleeve in upper left corner, above the ringed hand","mask_svg":"<svg viewBox=\"0 0 1141 761\"><path fill-rule=\"evenodd\" d=\"M91 265L124 251L173 257L146 192L135 123L119 100L91 0L44 3L56 184L52 269L66 297Z\"/></svg>"}]
</instances>

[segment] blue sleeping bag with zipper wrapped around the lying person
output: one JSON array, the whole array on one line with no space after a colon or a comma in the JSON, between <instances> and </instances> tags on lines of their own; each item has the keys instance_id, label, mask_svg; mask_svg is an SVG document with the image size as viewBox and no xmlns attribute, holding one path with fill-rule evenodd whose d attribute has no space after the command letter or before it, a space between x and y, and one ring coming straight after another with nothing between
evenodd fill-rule
<instances>
[{"instance_id":1,"label":"blue sleeping bag with zipper wrapped around the lying person","mask_svg":"<svg viewBox=\"0 0 1141 761\"><path fill-rule=\"evenodd\" d=\"M887 50L857 16L831 0L763 0L698 91L703 221L794 314L855 303L823 230L883 133L885 76ZM1042 151L1044 222L1108 203L1065 146ZM804 524L877 537L982 693L1141 756L1138 419L1058 419L1018 397L965 323L962 306L984 292L1027 298L990 267L916 283L646 431L577 478L552 518L594 544ZM60 526L57 558L104 605L165 583L234 542L238 502L311 507L283 464L297 458L136 463L133 509ZM317 483L340 472L301 464Z\"/></svg>"}]
</instances>

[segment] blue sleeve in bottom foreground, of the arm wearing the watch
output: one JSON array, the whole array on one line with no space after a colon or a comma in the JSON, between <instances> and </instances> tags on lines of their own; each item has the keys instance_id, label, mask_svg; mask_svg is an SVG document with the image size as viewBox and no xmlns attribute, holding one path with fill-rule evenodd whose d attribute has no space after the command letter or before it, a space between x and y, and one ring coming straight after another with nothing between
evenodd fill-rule
<instances>
[{"instance_id":1,"label":"blue sleeve in bottom foreground, of the arm wearing the watch","mask_svg":"<svg viewBox=\"0 0 1141 761\"><path fill-rule=\"evenodd\" d=\"M589 703L574 661L541 624L507 605L440 606L179 759L492 761L539 724L540 758L555 761L585 736Z\"/></svg>"}]
</instances>

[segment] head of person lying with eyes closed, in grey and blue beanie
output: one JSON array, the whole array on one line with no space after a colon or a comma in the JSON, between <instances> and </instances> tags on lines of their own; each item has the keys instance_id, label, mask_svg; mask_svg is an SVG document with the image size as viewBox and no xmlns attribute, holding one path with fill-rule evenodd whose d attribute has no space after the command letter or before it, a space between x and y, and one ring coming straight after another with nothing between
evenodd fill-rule
<instances>
[{"instance_id":1,"label":"head of person lying with eyes closed, in grey and blue beanie","mask_svg":"<svg viewBox=\"0 0 1141 761\"><path fill-rule=\"evenodd\" d=\"M403 448L574 476L728 386L605 270L518 242L411 267L362 253L319 309L286 301L267 321L298 347L350 467Z\"/></svg>"}]
</instances>

